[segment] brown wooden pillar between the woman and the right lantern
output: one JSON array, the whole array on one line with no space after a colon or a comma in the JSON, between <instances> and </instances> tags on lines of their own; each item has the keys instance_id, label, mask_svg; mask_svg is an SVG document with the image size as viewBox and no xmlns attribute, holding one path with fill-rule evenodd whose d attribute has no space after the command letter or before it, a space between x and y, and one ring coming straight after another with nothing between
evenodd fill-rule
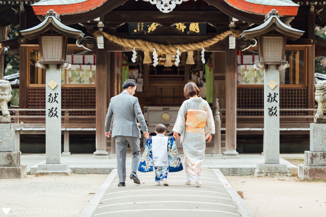
<instances>
[{"instance_id":1,"label":"brown wooden pillar between the woman and the right lantern","mask_svg":"<svg viewBox=\"0 0 326 217\"><path fill-rule=\"evenodd\" d=\"M236 50L227 51L227 73L226 73L226 151L224 155L238 155L236 149L237 141L237 62Z\"/></svg>"}]
</instances>

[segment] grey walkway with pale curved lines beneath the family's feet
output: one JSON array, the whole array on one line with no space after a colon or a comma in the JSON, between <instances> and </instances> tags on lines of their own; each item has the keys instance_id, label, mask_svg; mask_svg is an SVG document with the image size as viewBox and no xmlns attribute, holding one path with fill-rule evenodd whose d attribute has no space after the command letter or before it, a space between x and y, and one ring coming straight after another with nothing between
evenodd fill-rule
<instances>
[{"instance_id":1,"label":"grey walkway with pale curved lines beneath the family's feet","mask_svg":"<svg viewBox=\"0 0 326 217\"><path fill-rule=\"evenodd\" d=\"M201 187L185 185L185 171L168 174L169 186L155 185L154 172L141 173L141 184L128 178L118 187L116 169L98 190L81 217L90 216L253 216L220 170L203 169ZM197 213L197 214L196 214Z\"/></svg>"}]
</instances>

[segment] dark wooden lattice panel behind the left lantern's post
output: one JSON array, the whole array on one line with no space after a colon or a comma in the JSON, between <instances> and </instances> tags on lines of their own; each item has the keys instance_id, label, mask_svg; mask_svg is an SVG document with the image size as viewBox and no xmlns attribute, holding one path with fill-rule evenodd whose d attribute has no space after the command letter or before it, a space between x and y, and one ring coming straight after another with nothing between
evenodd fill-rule
<instances>
[{"instance_id":1,"label":"dark wooden lattice panel behind the left lantern's post","mask_svg":"<svg viewBox=\"0 0 326 217\"><path fill-rule=\"evenodd\" d=\"M96 88L62 88L62 109L96 108ZM28 107L30 109L45 108L45 88L28 88ZM44 112L29 112L28 115L45 115ZM62 113L64 115L64 113ZM95 115L95 111L74 111L69 115Z\"/></svg>"}]
</instances>

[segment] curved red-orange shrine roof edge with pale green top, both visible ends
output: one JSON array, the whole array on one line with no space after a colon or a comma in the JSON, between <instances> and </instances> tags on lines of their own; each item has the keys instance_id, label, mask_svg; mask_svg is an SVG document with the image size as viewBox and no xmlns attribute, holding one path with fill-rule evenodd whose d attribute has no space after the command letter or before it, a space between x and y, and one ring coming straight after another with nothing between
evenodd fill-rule
<instances>
[{"instance_id":1,"label":"curved red-orange shrine roof edge with pale green top, both visible ends","mask_svg":"<svg viewBox=\"0 0 326 217\"><path fill-rule=\"evenodd\" d=\"M100 7L111 0L41 0L32 5L35 15L53 9L60 15L80 14ZM216 0L217 1L217 0ZM246 13L266 15L276 9L281 16L297 15L299 5L291 0L224 0L231 7Z\"/></svg>"}]
</instances>

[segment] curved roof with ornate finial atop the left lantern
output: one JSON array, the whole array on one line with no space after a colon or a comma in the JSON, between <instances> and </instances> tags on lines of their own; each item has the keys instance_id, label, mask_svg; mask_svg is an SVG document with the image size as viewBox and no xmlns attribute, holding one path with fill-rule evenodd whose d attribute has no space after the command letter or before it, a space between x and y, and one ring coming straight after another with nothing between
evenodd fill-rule
<instances>
[{"instance_id":1,"label":"curved roof with ornate finial atop the left lantern","mask_svg":"<svg viewBox=\"0 0 326 217\"><path fill-rule=\"evenodd\" d=\"M37 38L37 36L39 36L40 34L46 33L50 29L52 29L53 31L55 31L57 33L60 33L60 34L63 34L63 35L66 35L68 37L75 38L75 39L80 39L84 36L82 31L73 29L69 26L66 26L66 25L62 24L60 21L61 21L60 16L56 12L54 12L53 9L50 9L47 12L46 18L44 19L43 22L41 22L37 26L34 26L34 27L26 29L26 30L22 30L20 32L22 33L22 35L25 38L27 38L29 40Z\"/></svg>"}]
</instances>

